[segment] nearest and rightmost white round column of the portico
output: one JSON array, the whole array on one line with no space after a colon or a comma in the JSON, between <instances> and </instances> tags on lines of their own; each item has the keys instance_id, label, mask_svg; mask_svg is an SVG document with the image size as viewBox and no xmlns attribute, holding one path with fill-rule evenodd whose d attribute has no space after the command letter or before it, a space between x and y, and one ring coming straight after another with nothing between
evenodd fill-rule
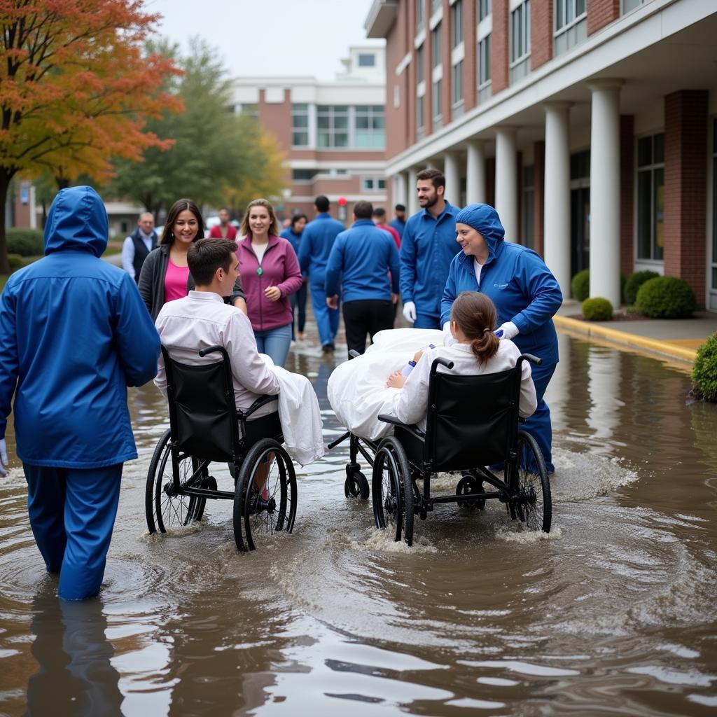
<instances>
[{"instance_id":1,"label":"nearest and rightmost white round column of the portico","mask_svg":"<svg viewBox=\"0 0 717 717\"><path fill-rule=\"evenodd\" d=\"M620 304L620 109L622 80L595 80L590 135L590 295Z\"/></svg>"}]
</instances>

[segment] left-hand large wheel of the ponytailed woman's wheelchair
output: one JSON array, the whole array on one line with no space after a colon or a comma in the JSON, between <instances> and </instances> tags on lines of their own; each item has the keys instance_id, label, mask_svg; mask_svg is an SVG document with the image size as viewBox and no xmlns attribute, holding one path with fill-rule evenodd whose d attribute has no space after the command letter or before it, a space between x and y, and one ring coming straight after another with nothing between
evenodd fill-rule
<instances>
[{"instance_id":1,"label":"left-hand large wheel of the ponytailed woman's wheelchair","mask_svg":"<svg viewBox=\"0 0 717 717\"><path fill-rule=\"evenodd\" d=\"M384 438L376 449L372 476L376 528L390 529L394 541L402 533L413 543L413 485L406 452L393 437Z\"/></svg>"}]
</instances>

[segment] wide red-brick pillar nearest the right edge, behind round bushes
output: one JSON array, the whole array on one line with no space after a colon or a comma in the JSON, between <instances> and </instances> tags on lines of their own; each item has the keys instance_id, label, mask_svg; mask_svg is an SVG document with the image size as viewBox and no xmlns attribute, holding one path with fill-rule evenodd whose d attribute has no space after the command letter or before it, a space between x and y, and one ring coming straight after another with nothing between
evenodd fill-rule
<instances>
[{"instance_id":1,"label":"wide red-brick pillar nearest the right edge, behind round bushes","mask_svg":"<svg viewBox=\"0 0 717 717\"><path fill-rule=\"evenodd\" d=\"M665 275L705 297L707 90L665 97Z\"/></svg>"}]
</instances>

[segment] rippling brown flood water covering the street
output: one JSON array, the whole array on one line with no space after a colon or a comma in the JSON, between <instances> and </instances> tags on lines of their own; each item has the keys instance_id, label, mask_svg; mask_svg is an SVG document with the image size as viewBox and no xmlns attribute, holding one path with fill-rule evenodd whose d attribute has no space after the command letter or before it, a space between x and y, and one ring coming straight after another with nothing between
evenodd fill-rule
<instances>
[{"instance_id":1,"label":"rippling brown flood water covering the street","mask_svg":"<svg viewBox=\"0 0 717 717\"><path fill-rule=\"evenodd\" d=\"M148 536L168 421L145 386L130 393L140 457L103 592L60 604L14 460L0 480L0 713L714 715L717 407L685 405L683 367L560 342L547 536L489 501L437 508L413 549L392 543L370 500L344 498L346 444L298 471L293 535L238 554L231 503L209 501L199 526ZM343 359L308 347L288 364L315 385L327 442Z\"/></svg>"}]
</instances>

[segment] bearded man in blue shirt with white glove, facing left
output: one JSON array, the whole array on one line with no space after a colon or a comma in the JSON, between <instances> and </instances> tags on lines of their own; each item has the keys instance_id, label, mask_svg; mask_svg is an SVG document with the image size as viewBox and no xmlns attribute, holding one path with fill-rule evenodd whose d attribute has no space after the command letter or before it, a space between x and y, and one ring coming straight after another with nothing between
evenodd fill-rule
<instances>
[{"instance_id":1,"label":"bearded man in blue shirt with white glove, facing left","mask_svg":"<svg viewBox=\"0 0 717 717\"><path fill-rule=\"evenodd\" d=\"M401 241L401 297L404 317L414 328L441 328L443 287L450 262L460 252L455 242L459 209L445 200L445 184L437 169L416 175L422 209L406 222Z\"/></svg>"}]
</instances>

